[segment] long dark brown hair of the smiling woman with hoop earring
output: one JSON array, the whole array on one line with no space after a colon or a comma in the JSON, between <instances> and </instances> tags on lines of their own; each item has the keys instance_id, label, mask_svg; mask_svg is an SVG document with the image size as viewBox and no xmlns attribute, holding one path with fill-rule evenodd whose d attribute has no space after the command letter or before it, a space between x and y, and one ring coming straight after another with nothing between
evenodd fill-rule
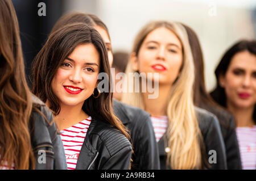
<instances>
[{"instance_id":1,"label":"long dark brown hair of the smiling woman with hoop earring","mask_svg":"<svg viewBox=\"0 0 256 181\"><path fill-rule=\"evenodd\" d=\"M93 44L100 54L100 72L106 73L108 79L105 80L110 85L110 65L104 40L100 34L92 27L85 23L66 24L52 31L46 44L36 55L32 64L32 92L37 95L43 102L46 100L50 103L50 109L58 115L60 112L59 99L54 94L51 83L55 77L57 69L63 61L81 44ZM105 121L118 128L127 138L127 129L122 122L114 116L112 106L113 93L101 92L100 96L95 99L91 95L85 100L82 110L88 115Z\"/></svg>"}]
</instances>

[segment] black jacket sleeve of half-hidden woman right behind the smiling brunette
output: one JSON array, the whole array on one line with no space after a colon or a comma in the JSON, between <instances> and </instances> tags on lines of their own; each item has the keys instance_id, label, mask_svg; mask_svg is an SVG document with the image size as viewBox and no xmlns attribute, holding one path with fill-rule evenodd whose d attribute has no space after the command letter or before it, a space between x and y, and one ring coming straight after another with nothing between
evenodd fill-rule
<instances>
[{"instance_id":1,"label":"black jacket sleeve of half-hidden woman right behind the smiling brunette","mask_svg":"<svg viewBox=\"0 0 256 181\"><path fill-rule=\"evenodd\" d=\"M134 154L133 159L137 165L134 165L134 169L137 170L159 170L159 151L158 144L155 139L154 128L151 123L151 119L147 116L146 121L139 128L138 137L135 137L133 142Z\"/></svg>"}]
</instances>

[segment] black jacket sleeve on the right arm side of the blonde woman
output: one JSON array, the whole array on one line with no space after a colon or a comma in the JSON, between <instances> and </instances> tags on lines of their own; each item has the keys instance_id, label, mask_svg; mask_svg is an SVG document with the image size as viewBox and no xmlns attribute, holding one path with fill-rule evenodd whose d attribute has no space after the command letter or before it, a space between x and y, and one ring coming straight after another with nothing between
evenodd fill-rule
<instances>
[{"instance_id":1,"label":"black jacket sleeve on the right arm side of the blonde woman","mask_svg":"<svg viewBox=\"0 0 256 181\"><path fill-rule=\"evenodd\" d=\"M205 135L205 146L210 169L227 169L224 140L216 116L209 117L210 123ZM214 158L216 157L216 158Z\"/></svg>"}]
</instances>

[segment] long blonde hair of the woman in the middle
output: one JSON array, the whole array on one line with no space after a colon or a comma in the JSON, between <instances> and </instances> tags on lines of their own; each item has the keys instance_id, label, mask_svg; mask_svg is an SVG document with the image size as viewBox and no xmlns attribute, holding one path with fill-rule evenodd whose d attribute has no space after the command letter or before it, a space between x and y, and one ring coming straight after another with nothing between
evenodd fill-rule
<instances>
[{"instance_id":1,"label":"long blonde hair of the woman in the middle","mask_svg":"<svg viewBox=\"0 0 256 181\"><path fill-rule=\"evenodd\" d=\"M199 128L193 104L194 65L187 33L180 23L157 21L146 24L135 38L132 52L138 56L141 45L151 31L159 27L165 27L174 32L183 45L183 64L179 77L172 85L167 101L168 128L166 131L166 146L170 148L167 153L167 165L172 169L202 169L202 145L203 136ZM131 62L126 68L126 75L135 73L131 68ZM129 81L127 77L127 89ZM135 85L141 86L141 85ZM141 82L139 83L141 84ZM145 109L141 92L128 92L122 95L122 102Z\"/></svg>"}]
</instances>

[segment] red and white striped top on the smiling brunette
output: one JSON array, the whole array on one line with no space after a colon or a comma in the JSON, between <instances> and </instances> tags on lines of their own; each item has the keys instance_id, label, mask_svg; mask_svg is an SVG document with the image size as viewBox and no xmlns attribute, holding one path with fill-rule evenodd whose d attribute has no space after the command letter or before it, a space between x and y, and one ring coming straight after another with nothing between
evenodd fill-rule
<instances>
[{"instance_id":1,"label":"red and white striped top on the smiling brunette","mask_svg":"<svg viewBox=\"0 0 256 181\"><path fill-rule=\"evenodd\" d=\"M92 117L88 117L80 123L61 131L68 170L76 169L77 159L91 121Z\"/></svg>"}]
</instances>

